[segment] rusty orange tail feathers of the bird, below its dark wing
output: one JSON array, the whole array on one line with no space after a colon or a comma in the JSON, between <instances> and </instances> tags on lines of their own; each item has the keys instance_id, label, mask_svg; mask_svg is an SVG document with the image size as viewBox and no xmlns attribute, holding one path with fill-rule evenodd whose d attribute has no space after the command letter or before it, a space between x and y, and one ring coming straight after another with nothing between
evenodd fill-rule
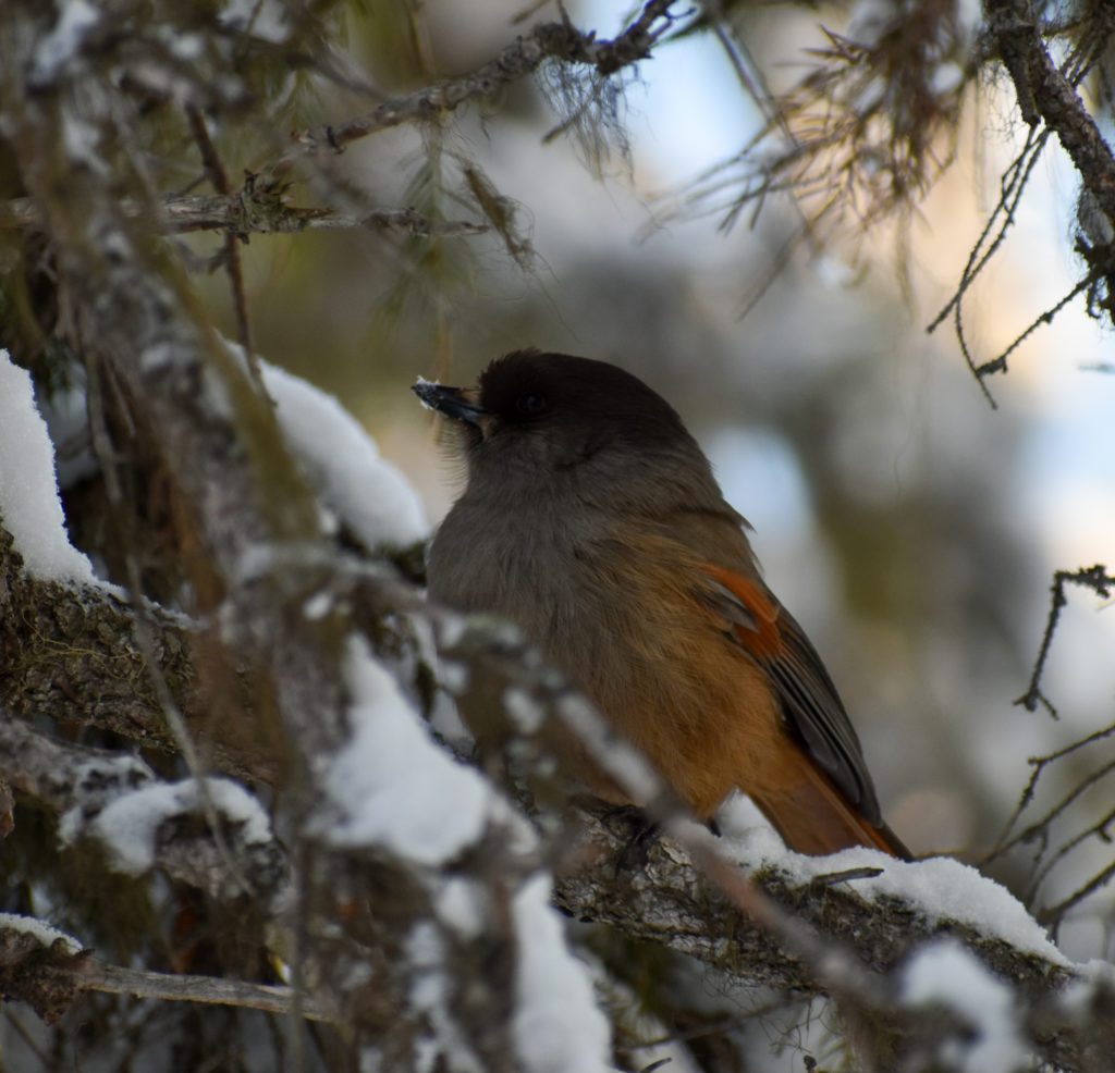
<instances>
[{"instance_id":1,"label":"rusty orange tail feathers of the bird, below its dark wing","mask_svg":"<svg viewBox=\"0 0 1115 1073\"><path fill-rule=\"evenodd\" d=\"M783 841L799 853L824 856L851 846L881 849L900 860L911 860L910 850L885 825L876 827L849 803L832 780L798 753L792 772L777 788L768 783L762 790L744 788Z\"/></svg>"}]
</instances>

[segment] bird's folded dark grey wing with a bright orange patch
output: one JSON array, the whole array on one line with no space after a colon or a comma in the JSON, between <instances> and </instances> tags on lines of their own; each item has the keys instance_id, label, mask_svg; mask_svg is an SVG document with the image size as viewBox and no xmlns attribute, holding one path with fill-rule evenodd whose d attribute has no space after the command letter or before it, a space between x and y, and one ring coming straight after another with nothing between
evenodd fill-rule
<instances>
[{"instance_id":1,"label":"bird's folded dark grey wing with a bright orange patch","mask_svg":"<svg viewBox=\"0 0 1115 1073\"><path fill-rule=\"evenodd\" d=\"M821 656L794 617L757 578L706 564L702 593L733 640L768 675L787 728L865 819L880 823L875 788L860 739Z\"/></svg>"}]
</instances>

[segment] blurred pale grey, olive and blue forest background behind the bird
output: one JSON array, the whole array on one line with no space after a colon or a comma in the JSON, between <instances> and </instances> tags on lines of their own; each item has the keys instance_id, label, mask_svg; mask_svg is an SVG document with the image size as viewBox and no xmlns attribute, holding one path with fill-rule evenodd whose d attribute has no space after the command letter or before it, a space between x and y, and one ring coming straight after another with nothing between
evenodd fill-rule
<instances>
[{"instance_id":1,"label":"blurred pale grey, olive and blue forest background behind the bird","mask_svg":"<svg viewBox=\"0 0 1115 1073\"><path fill-rule=\"evenodd\" d=\"M521 32L516 4L473 2L465 14L454 0L428 0L417 22L403 7L349 19L357 66L389 94L468 71ZM739 7L740 38L775 89L801 76L821 23L849 18ZM569 10L601 37L629 14L611 0ZM553 17L552 7L536 16ZM368 105L338 95L314 107L307 121ZM1018 801L1028 758L1109 724L1115 709L1115 611L1086 592L1070 593L1047 669L1060 719L1012 703L1038 653L1054 570L1115 560L1115 375L1089 368L1112 360L1111 335L1079 300L990 380L992 409L950 324L925 330L1020 145L1014 108L1009 87L969 87L956 163L909 228L849 228L798 251L772 282L799 223L794 206L772 199L725 231L686 196L763 123L711 35L659 47L640 65L620 109L629 140L602 158L565 136L544 140L559 116L521 82L486 115L356 143L338 175L379 207L455 220L469 216L458 192L479 168L511 199L529 248L508 252L497 235L256 237L244 250L256 344L343 401L419 488L432 524L457 477L407 390L416 377L472 382L491 358L540 347L647 380L754 525L772 588L861 732L892 827L915 852L979 861ZM1082 274L1075 191L1067 160L1049 149L1009 240L969 292L977 361ZM202 285L235 336L226 281ZM1027 816L1109 757L1101 742L1053 765ZM1111 799L1098 781L1055 825L1054 841L1095 822ZM1035 849L995 861L991 874L1029 897ZM1109 859L1109 847L1087 840L1036 904L1065 898ZM1061 928L1066 953L1111 955L1113 915L1109 892L1085 903Z\"/></svg>"}]
</instances>

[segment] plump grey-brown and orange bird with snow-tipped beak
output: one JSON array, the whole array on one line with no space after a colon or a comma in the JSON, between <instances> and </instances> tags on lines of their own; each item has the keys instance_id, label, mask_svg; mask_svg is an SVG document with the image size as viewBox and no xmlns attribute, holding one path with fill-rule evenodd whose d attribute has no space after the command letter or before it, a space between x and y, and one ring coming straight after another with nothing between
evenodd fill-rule
<instances>
[{"instance_id":1,"label":"plump grey-brown and orange bird with snow-tipped beak","mask_svg":"<svg viewBox=\"0 0 1115 1073\"><path fill-rule=\"evenodd\" d=\"M797 852L910 858L821 656L660 394L539 350L413 390L467 474L428 550L433 601L518 626L701 820L738 789ZM583 747L561 759L605 801L647 803Z\"/></svg>"}]
</instances>

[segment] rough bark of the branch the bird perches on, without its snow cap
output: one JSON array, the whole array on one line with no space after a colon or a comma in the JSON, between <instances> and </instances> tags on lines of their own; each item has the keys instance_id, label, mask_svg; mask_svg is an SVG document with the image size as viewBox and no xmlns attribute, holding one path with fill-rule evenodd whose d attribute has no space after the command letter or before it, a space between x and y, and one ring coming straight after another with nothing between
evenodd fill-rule
<instances>
[{"instance_id":1,"label":"rough bark of the branch the bird perches on, without its snow cap","mask_svg":"<svg viewBox=\"0 0 1115 1073\"><path fill-rule=\"evenodd\" d=\"M869 900L856 886L870 877L853 872L803 881L776 867L754 871L748 861L733 859L730 847L698 849L694 858L669 839L650 850L646 867L618 875L614 862L630 831L607 809L581 808L578 814L583 840L570 853L575 868L559 876L558 904L575 919L695 957L728 987L851 1001L861 1012L888 1014L895 1034L891 1046L908 1045L905 1036L931 1025L902 1016L899 974L919 945L949 936L1009 982L1044 1060L1061 1070L1092 1070L1095 1055L1115 1053L1105 1050L1115 1047L1115 1022L1082 1023L1060 1001L1070 984L1095 984L1086 974L970 925L929 919L903 898ZM744 892L746 886L754 892ZM1098 985L1095 1001L1112 999Z\"/></svg>"}]
</instances>

